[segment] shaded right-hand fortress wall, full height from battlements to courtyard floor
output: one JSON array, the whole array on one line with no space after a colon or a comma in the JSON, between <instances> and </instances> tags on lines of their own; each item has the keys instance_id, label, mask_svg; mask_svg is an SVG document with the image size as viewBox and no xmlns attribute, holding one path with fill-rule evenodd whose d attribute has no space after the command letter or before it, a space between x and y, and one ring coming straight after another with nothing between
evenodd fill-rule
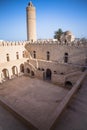
<instances>
[{"instance_id":1,"label":"shaded right-hand fortress wall, full height from battlements to courtyard floor","mask_svg":"<svg viewBox=\"0 0 87 130\"><path fill-rule=\"evenodd\" d=\"M34 71L37 77L50 77L54 83L64 85L66 81L70 81L74 84L87 64L87 43L81 40L70 43L38 40L27 43L25 48L29 52L26 67ZM48 77L47 73L50 73Z\"/></svg>"}]
</instances>

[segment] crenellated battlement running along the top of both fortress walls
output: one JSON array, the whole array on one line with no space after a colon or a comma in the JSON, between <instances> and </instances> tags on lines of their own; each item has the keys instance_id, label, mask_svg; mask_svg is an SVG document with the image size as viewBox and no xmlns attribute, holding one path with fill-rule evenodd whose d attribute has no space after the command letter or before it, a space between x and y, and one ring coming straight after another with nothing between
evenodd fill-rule
<instances>
[{"instance_id":1,"label":"crenellated battlement running along the top of both fortress walls","mask_svg":"<svg viewBox=\"0 0 87 130\"><path fill-rule=\"evenodd\" d=\"M66 45L66 46L76 46L76 47L87 47L87 40L74 40L73 42L65 42L65 41L58 41L55 39L48 39L48 40L37 40L35 42L30 41L0 41L0 46L21 46L25 44L31 45Z\"/></svg>"}]
</instances>

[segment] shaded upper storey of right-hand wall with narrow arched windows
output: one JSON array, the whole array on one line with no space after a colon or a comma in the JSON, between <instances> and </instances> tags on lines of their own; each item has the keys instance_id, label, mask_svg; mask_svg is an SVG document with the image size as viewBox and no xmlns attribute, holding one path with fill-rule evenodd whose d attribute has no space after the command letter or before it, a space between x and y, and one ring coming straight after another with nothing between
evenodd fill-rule
<instances>
[{"instance_id":1,"label":"shaded upper storey of right-hand wall with narrow arched windows","mask_svg":"<svg viewBox=\"0 0 87 130\"><path fill-rule=\"evenodd\" d=\"M84 59L87 56L87 43L78 44L75 42L60 43L58 41L37 41L34 43L27 43L25 48L30 52L30 55L34 58L34 51L37 59L47 60L47 52L50 54L51 61L57 61L58 63L64 63L64 54L68 53L68 63L81 64L84 63ZM81 55L80 55L81 54ZM79 61L80 60L80 61ZM83 61L83 62L82 62ZM78 63L79 62L79 63Z\"/></svg>"}]
</instances>

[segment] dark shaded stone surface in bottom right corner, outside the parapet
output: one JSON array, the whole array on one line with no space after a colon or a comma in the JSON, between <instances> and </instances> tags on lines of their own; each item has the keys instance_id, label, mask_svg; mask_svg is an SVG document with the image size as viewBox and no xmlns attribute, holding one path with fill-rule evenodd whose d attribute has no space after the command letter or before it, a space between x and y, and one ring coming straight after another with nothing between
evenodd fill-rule
<instances>
[{"instance_id":1,"label":"dark shaded stone surface in bottom right corner, outside the parapet","mask_svg":"<svg viewBox=\"0 0 87 130\"><path fill-rule=\"evenodd\" d=\"M55 130L87 130L87 76L62 114Z\"/></svg>"}]
</instances>

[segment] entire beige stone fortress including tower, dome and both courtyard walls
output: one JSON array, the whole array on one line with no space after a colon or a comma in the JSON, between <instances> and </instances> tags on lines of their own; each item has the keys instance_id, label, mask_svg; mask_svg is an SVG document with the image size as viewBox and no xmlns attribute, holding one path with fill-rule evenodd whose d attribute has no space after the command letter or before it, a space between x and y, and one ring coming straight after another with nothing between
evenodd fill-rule
<instances>
[{"instance_id":1,"label":"entire beige stone fortress including tower, dome and both courtyard walls","mask_svg":"<svg viewBox=\"0 0 87 130\"><path fill-rule=\"evenodd\" d=\"M73 85L87 68L87 41L75 39L70 31L60 41L36 40L36 12L31 2L26 13L29 41L0 41L0 83L26 74Z\"/></svg>"}]
</instances>

